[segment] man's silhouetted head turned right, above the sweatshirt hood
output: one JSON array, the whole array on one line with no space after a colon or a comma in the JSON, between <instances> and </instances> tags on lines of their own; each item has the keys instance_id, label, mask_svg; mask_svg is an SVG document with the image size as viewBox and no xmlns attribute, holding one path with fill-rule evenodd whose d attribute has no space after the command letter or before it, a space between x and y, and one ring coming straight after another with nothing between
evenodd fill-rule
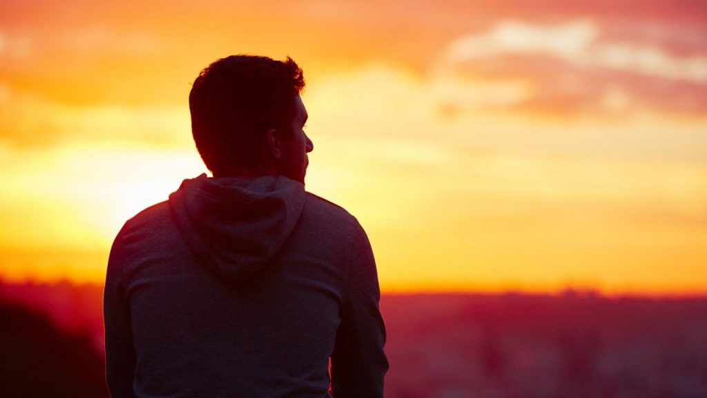
<instances>
[{"instance_id":1,"label":"man's silhouetted head turned right, above the sweatshirt hood","mask_svg":"<svg viewBox=\"0 0 707 398\"><path fill-rule=\"evenodd\" d=\"M291 59L232 55L206 67L189 93L192 134L214 176L259 170L304 182L302 69Z\"/></svg>"}]
</instances>

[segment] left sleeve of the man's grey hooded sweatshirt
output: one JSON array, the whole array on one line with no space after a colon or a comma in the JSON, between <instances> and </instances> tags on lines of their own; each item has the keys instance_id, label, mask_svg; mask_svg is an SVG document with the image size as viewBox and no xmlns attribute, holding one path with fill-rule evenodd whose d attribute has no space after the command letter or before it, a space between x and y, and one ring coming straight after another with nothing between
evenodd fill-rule
<instances>
[{"instance_id":1,"label":"left sleeve of the man's grey hooded sweatshirt","mask_svg":"<svg viewBox=\"0 0 707 398\"><path fill-rule=\"evenodd\" d=\"M124 231L118 234L108 259L103 290L105 324L105 375L112 398L134 397L135 349L130 324L130 308L122 274L127 266L122 254Z\"/></svg>"}]
</instances>

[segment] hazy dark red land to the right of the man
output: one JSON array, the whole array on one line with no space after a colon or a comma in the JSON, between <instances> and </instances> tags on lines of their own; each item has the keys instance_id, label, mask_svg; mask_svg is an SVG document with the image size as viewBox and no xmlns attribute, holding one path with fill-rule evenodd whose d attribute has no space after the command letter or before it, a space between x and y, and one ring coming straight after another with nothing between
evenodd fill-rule
<instances>
[{"instance_id":1,"label":"hazy dark red land to the right of the man","mask_svg":"<svg viewBox=\"0 0 707 398\"><path fill-rule=\"evenodd\" d=\"M707 397L707 299L401 295L386 397Z\"/></svg>"}]
</instances>

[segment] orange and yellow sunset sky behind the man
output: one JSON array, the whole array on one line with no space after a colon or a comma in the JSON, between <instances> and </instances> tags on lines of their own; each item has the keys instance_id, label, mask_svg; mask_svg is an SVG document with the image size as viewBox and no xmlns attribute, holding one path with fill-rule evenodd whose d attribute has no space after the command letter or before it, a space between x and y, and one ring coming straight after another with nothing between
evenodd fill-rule
<instances>
[{"instance_id":1,"label":"orange and yellow sunset sky behind the man","mask_svg":"<svg viewBox=\"0 0 707 398\"><path fill-rule=\"evenodd\" d=\"M210 62L303 67L307 189L384 292L707 293L707 3L2 0L0 278L98 282L206 172Z\"/></svg>"}]
</instances>

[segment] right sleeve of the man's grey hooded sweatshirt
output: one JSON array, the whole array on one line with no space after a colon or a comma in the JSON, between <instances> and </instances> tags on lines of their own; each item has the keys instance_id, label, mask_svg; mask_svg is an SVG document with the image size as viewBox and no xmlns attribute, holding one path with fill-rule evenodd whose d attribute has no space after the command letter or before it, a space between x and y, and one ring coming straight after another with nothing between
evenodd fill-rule
<instances>
[{"instance_id":1,"label":"right sleeve of the man's grey hooded sweatshirt","mask_svg":"<svg viewBox=\"0 0 707 398\"><path fill-rule=\"evenodd\" d=\"M378 302L380 288L373 251L361 225L356 223L351 248L347 300L332 352L334 398L376 398L383 395L385 324Z\"/></svg>"}]
</instances>

